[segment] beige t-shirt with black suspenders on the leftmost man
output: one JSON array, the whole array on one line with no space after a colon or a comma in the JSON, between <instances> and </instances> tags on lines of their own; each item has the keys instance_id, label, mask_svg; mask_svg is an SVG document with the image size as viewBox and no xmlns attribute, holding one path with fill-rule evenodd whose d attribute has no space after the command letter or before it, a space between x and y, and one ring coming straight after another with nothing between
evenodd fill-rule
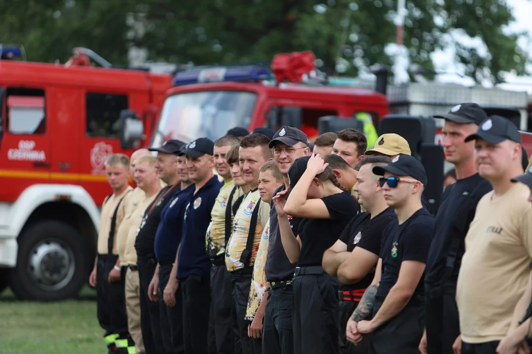
<instances>
[{"instance_id":1,"label":"beige t-shirt with black suspenders on the leftmost man","mask_svg":"<svg viewBox=\"0 0 532 354\"><path fill-rule=\"evenodd\" d=\"M111 195L109 199L102 205L102 212L100 215L100 223L98 227L98 244L97 251L98 254L109 254L109 249L107 247L107 241L109 240L109 232L111 232L111 220L113 219L113 214L117 205L124 197L124 200L120 203L120 208L117 212L117 221L114 228L114 239L113 239L113 254L118 254L117 251L117 231L120 227L120 223L124 217L124 205L128 203L128 199L131 193L128 193L133 188L128 186L126 191L120 195ZM127 193L127 194L126 194Z\"/></svg>"}]
</instances>

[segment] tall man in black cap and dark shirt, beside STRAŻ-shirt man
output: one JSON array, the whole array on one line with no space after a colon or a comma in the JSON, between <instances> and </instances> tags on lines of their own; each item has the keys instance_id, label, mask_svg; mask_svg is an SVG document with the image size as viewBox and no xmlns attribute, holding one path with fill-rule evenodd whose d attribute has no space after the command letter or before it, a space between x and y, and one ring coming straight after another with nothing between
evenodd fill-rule
<instances>
[{"instance_id":1,"label":"tall man in black cap and dark shirt, beside STRA\u017b-shirt man","mask_svg":"<svg viewBox=\"0 0 532 354\"><path fill-rule=\"evenodd\" d=\"M460 334L455 295L464 238L478 201L492 189L477 172L475 142L464 140L477 132L487 115L476 103L462 103L435 118L445 119L442 129L445 159L453 163L457 181L445 188L436 214L425 272L426 332L419 350L421 354L452 354L453 343Z\"/></svg>"}]
</instances>

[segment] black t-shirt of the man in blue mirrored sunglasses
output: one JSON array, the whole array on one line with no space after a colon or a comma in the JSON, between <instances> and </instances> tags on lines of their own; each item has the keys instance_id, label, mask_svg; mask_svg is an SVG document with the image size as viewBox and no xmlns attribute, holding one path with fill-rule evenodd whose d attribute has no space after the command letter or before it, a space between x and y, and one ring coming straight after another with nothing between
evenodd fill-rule
<instances>
[{"instance_id":1,"label":"black t-shirt of the man in blue mirrored sunglasses","mask_svg":"<svg viewBox=\"0 0 532 354\"><path fill-rule=\"evenodd\" d=\"M382 258L381 277L377 297L384 299L397 282L403 261L427 263L430 242L434 235L435 218L425 208L419 209L399 225L398 220L389 223L383 232L380 247ZM423 276L414 295L424 295Z\"/></svg>"}]
</instances>

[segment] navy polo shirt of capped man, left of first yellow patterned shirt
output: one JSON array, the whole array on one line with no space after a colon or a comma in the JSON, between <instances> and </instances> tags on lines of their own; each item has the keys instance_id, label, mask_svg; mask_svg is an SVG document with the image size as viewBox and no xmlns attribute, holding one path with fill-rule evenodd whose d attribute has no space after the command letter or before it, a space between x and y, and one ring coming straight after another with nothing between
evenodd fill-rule
<instances>
[{"instance_id":1,"label":"navy polo shirt of capped man, left of first yellow patterned shirt","mask_svg":"<svg viewBox=\"0 0 532 354\"><path fill-rule=\"evenodd\" d=\"M190 274L202 275L205 279L210 277L211 261L205 247L205 235L211 222L212 207L222 185L218 176L213 176L196 194L191 193L188 198L178 254L178 279ZM196 186L193 185L193 188Z\"/></svg>"}]
</instances>

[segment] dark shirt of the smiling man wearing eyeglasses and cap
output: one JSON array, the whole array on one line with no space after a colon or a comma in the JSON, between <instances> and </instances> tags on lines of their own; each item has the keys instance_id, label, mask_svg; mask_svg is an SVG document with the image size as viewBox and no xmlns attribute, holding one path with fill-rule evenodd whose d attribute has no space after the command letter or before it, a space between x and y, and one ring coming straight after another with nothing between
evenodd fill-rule
<instances>
[{"instance_id":1,"label":"dark shirt of the smiling man wearing eyeglasses and cap","mask_svg":"<svg viewBox=\"0 0 532 354\"><path fill-rule=\"evenodd\" d=\"M283 184L275 190L272 194L272 198L279 192L286 189ZM294 232L294 236L297 236L297 230L302 219L288 217L290 227ZM266 280L279 281L288 280L294 277L294 271L296 265L290 263L286 256L285 249L282 247L281 235L279 234L279 220L277 219L277 210L273 201L270 202L270 235L268 240L268 255L266 256L266 264L264 271L266 273Z\"/></svg>"}]
</instances>

